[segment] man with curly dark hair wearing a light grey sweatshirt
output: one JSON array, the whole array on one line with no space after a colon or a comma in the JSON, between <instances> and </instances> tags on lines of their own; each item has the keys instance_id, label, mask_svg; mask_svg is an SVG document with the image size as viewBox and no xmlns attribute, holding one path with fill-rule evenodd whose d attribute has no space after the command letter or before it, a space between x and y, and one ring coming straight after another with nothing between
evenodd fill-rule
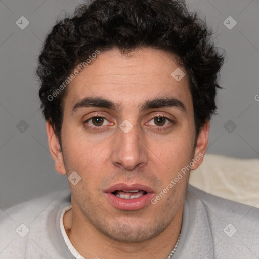
<instances>
[{"instance_id":1,"label":"man with curly dark hair wearing a light grey sweatshirt","mask_svg":"<svg viewBox=\"0 0 259 259\"><path fill-rule=\"evenodd\" d=\"M39 96L71 202L58 193L3 258L258 258L259 210L188 185L223 63L209 36L172 0L96 0L54 26Z\"/></svg>"}]
</instances>

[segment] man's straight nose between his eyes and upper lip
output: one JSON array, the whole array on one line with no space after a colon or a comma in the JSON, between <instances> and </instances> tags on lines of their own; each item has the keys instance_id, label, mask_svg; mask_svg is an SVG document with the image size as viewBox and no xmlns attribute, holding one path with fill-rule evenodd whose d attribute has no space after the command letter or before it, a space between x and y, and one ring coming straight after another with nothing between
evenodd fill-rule
<instances>
[{"instance_id":1,"label":"man's straight nose between his eyes and upper lip","mask_svg":"<svg viewBox=\"0 0 259 259\"><path fill-rule=\"evenodd\" d=\"M131 131L127 133L120 128L117 131L118 135L113 143L112 163L128 170L147 164L147 147L137 126L133 126Z\"/></svg>"}]
</instances>

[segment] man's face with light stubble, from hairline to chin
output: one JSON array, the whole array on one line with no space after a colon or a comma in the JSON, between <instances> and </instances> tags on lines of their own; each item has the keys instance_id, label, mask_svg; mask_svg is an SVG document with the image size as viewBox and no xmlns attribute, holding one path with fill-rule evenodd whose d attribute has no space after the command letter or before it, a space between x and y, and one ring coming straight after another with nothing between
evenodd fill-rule
<instances>
[{"instance_id":1,"label":"man's face with light stubble, from hairline to chin","mask_svg":"<svg viewBox=\"0 0 259 259\"><path fill-rule=\"evenodd\" d=\"M114 240L140 242L182 212L188 173L150 202L195 155L187 76L171 76L178 67L164 51L141 49L128 57L113 49L70 83L61 139L67 175L81 177L69 183L78 222Z\"/></svg>"}]
</instances>

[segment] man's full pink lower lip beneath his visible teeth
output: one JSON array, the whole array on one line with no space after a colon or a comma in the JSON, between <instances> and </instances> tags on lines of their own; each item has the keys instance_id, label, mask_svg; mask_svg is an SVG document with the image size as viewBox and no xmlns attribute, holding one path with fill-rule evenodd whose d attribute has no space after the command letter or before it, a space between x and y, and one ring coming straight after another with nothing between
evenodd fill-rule
<instances>
[{"instance_id":1,"label":"man's full pink lower lip beneath his visible teeth","mask_svg":"<svg viewBox=\"0 0 259 259\"><path fill-rule=\"evenodd\" d=\"M106 193L109 202L117 209L120 210L138 210L147 206L154 196L154 193L147 193L139 198L122 199L112 193Z\"/></svg>"}]
</instances>

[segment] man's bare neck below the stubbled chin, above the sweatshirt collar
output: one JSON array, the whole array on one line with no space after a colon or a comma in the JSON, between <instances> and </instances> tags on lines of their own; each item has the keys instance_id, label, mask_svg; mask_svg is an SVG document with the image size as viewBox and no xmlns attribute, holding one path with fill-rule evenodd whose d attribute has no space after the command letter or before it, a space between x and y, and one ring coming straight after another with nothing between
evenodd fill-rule
<instances>
[{"instance_id":1,"label":"man's bare neck below the stubbled chin, above the sweatshirt collar","mask_svg":"<svg viewBox=\"0 0 259 259\"><path fill-rule=\"evenodd\" d=\"M183 204L163 232L150 240L139 243L122 243L110 239L85 220L80 213L75 213L73 210L76 208L73 204L72 207L73 209L64 214L64 227L73 246L85 258L166 259L175 247L181 231Z\"/></svg>"}]
</instances>

